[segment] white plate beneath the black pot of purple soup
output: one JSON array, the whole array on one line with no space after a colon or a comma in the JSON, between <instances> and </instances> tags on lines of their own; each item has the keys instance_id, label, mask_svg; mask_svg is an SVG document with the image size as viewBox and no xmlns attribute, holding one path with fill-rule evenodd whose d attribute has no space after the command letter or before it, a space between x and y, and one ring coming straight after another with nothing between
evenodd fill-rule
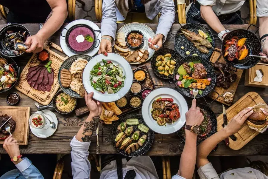
<instances>
[{"instance_id":1,"label":"white plate beneath the black pot of purple soup","mask_svg":"<svg viewBox=\"0 0 268 179\"><path fill-rule=\"evenodd\" d=\"M93 30L100 30L99 27L94 23L94 22L91 22L89 20L85 20L85 19L79 19L79 20L76 20L76 21L72 21L70 22L68 25L66 25L66 29L69 29L71 28L72 26L76 25L76 24L86 24L88 26L90 26ZM67 33L67 30L66 29L63 29L63 33L62 35L65 36L65 34ZM100 40L102 38L102 34L99 33L99 32L96 32L96 39L99 39L99 41L96 41L94 45L98 44L98 47L93 47L92 50L88 51L88 52L85 52L85 53L74 53L73 51L71 51L68 46L66 45L66 42L65 42L65 37L61 36L60 35L60 47L62 48L63 52L67 55L67 56L72 56L72 55L76 55L76 54L85 54L85 55L89 55L89 56L94 56L96 55L96 53L98 53L99 51L99 46L100 46Z\"/></svg>"}]
</instances>

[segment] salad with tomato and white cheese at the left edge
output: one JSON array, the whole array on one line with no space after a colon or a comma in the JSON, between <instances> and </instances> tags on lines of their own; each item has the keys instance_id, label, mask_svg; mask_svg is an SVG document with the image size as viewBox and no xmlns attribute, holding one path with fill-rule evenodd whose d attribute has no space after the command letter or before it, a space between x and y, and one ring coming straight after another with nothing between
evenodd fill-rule
<instances>
[{"instance_id":1,"label":"salad with tomato and white cheese at the left edge","mask_svg":"<svg viewBox=\"0 0 268 179\"><path fill-rule=\"evenodd\" d=\"M17 73L6 59L0 58L0 91L8 89L17 81Z\"/></svg>"}]
</instances>

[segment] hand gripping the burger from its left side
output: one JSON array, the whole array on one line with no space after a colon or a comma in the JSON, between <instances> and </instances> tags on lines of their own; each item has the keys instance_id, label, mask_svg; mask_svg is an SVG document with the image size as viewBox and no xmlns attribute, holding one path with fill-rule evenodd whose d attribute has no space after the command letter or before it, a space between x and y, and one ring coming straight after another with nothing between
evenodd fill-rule
<instances>
[{"instance_id":1,"label":"hand gripping the burger from its left side","mask_svg":"<svg viewBox=\"0 0 268 179\"><path fill-rule=\"evenodd\" d=\"M235 115L231 121L225 126L228 136L235 134L238 132L246 119L253 113L252 107L248 107L240 111L237 115Z\"/></svg>"}]
</instances>

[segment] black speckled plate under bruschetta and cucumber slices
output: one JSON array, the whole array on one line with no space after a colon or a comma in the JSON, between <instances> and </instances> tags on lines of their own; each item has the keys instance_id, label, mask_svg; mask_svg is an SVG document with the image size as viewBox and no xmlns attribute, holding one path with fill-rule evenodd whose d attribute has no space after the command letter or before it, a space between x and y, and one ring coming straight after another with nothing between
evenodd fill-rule
<instances>
[{"instance_id":1,"label":"black speckled plate under bruschetta and cucumber slices","mask_svg":"<svg viewBox=\"0 0 268 179\"><path fill-rule=\"evenodd\" d=\"M117 120L117 121L115 121L115 123L113 124L112 132L111 132L111 140L112 140L112 143L113 143L114 148L116 148L116 141L115 141L116 135L120 133L117 130L117 126L119 124L121 124L121 122L125 122L127 119L130 119L130 118L132 118L132 119L133 118L138 119L140 124L144 124L145 126L147 126L145 124L145 122L144 122L144 120L143 120L143 118L142 118L141 115L138 115L138 114L127 114L127 115L121 116L120 119ZM132 132L132 134L135 131L139 130L138 129L138 125L127 125L127 127L130 127L130 126L133 126L133 132ZM143 146L140 146L140 148L138 148L138 150L136 150L135 152L131 152L130 154L126 154L124 150L120 150L119 148L116 148L117 152L119 152L120 154L122 154L124 156L127 156L127 157L137 157L137 156L143 155L145 152L147 152L150 149L150 147L152 146L152 143L154 141L154 132L151 129L149 129L149 131L147 133L142 132L141 130L139 130L139 131L140 131L139 138L141 136L143 136L143 135L147 135L147 139L146 139L145 143L143 144ZM130 137L132 136L132 134L130 135ZM133 141L133 142L137 142L137 141Z\"/></svg>"}]
</instances>

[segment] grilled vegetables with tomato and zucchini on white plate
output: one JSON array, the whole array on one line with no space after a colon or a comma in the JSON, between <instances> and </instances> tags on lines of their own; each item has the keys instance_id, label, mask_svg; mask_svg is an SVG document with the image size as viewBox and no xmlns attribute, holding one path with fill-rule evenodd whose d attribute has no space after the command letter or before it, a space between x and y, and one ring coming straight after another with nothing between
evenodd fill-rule
<instances>
[{"instance_id":1,"label":"grilled vegetables with tomato and zucchini on white plate","mask_svg":"<svg viewBox=\"0 0 268 179\"><path fill-rule=\"evenodd\" d=\"M159 126L166 125L166 123L173 124L180 118L179 106L173 101L172 98L158 98L153 101L151 115Z\"/></svg>"}]
</instances>

